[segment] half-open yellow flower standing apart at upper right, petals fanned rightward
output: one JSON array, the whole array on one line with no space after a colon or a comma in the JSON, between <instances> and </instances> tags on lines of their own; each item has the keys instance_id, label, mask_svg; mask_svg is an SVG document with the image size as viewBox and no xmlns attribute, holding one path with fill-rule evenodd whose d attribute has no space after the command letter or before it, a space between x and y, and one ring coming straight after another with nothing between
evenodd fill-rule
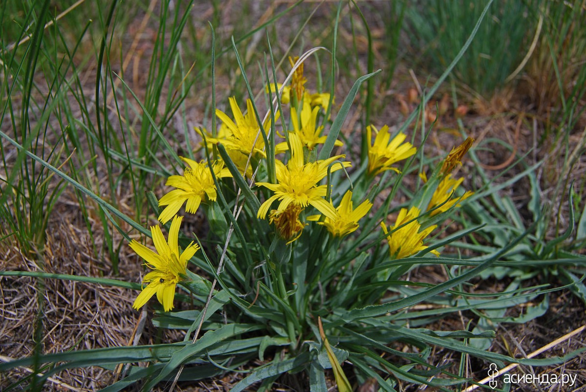
<instances>
[{"instance_id":1,"label":"half-open yellow flower standing apart at upper right, petals fanned rightward","mask_svg":"<svg viewBox=\"0 0 586 392\"><path fill-rule=\"evenodd\" d=\"M376 133L374 138L374 144L372 144L372 132ZM399 172L397 168L393 168L391 165L403 159L409 158L415 154L417 148L415 148L410 142L405 142L407 135L403 132L398 134L389 142L390 134L389 127L384 125L380 129L380 132L374 127L369 125L366 127L366 139L368 142L368 172L377 175L386 170L392 170Z\"/></svg>"}]
</instances>

